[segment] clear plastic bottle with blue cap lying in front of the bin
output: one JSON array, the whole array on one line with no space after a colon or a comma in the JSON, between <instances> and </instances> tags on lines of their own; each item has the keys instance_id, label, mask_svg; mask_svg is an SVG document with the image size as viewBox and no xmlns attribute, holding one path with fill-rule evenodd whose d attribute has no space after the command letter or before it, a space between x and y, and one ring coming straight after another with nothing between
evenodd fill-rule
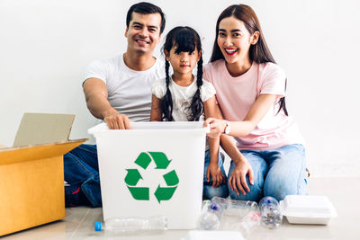
<instances>
[{"instance_id":1,"label":"clear plastic bottle with blue cap lying in front of the bin","mask_svg":"<svg viewBox=\"0 0 360 240\"><path fill-rule=\"evenodd\" d=\"M107 233L148 232L166 229L167 218L163 216L153 218L107 218L104 223L94 223L96 232L105 230Z\"/></svg>"}]
</instances>

